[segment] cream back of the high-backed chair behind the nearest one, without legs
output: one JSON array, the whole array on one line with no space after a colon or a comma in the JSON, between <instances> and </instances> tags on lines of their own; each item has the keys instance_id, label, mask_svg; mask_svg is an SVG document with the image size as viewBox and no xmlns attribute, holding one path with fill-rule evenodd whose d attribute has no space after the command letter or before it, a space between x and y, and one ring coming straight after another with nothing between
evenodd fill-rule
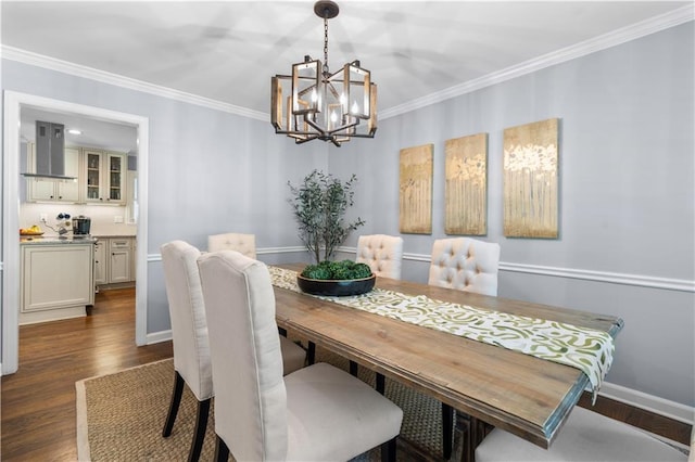
<instances>
[{"instance_id":1,"label":"cream back of the high-backed chair behind the nearest one, without legs","mask_svg":"<svg viewBox=\"0 0 695 462\"><path fill-rule=\"evenodd\" d=\"M207 322L197 259L198 248L184 241L162 245L162 266L169 304L174 369L199 401L213 396Z\"/></svg>"}]
</instances>

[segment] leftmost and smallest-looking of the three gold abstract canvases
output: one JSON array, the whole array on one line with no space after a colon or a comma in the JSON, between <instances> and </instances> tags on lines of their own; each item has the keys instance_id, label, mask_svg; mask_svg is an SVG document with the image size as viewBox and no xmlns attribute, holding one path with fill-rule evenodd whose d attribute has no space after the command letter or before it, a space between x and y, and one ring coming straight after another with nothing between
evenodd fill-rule
<instances>
[{"instance_id":1,"label":"leftmost and smallest-looking of the three gold abstract canvases","mask_svg":"<svg viewBox=\"0 0 695 462\"><path fill-rule=\"evenodd\" d=\"M400 229L432 233L432 144L401 150Z\"/></svg>"}]
</instances>

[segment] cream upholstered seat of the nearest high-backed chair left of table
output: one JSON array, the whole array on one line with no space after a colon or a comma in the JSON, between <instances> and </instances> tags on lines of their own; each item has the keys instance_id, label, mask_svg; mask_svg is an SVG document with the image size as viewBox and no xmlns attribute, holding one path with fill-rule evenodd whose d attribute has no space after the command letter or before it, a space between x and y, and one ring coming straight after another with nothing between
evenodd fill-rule
<instances>
[{"instance_id":1,"label":"cream upholstered seat of the nearest high-backed chair left of table","mask_svg":"<svg viewBox=\"0 0 695 462\"><path fill-rule=\"evenodd\" d=\"M285 386L287 460L345 461L401 432L401 408L325 362L286 375Z\"/></svg>"}]
</instances>

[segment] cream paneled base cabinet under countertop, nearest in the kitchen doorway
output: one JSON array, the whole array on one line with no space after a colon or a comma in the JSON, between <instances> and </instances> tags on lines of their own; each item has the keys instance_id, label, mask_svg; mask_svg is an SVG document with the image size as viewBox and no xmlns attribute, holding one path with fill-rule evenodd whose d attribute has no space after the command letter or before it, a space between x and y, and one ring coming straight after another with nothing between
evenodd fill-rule
<instances>
[{"instance_id":1,"label":"cream paneled base cabinet under countertop, nearest in the kitchen doorway","mask_svg":"<svg viewBox=\"0 0 695 462\"><path fill-rule=\"evenodd\" d=\"M93 244L22 245L20 324L86 316L94 303Z\"/></svg>"}]
</instances>

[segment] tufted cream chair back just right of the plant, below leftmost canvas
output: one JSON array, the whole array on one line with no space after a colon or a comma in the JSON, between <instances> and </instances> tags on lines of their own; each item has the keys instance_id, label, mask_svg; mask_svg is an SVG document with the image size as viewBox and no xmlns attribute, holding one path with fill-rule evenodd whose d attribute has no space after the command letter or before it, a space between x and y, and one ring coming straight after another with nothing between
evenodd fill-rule
<instances>
[{"instance_id":1,"label":"tufted cream chair back just right of the plant, below leftmost canvas","mask_svg":"<svg viewBox=\"0 0 695 462\"><path fill-rule=\"evenodd\" d=\"M369 265L371 272L377 275L401 279L403 238L387 234L361 235L355 261Z\"/></svg>"}]
</instances>

